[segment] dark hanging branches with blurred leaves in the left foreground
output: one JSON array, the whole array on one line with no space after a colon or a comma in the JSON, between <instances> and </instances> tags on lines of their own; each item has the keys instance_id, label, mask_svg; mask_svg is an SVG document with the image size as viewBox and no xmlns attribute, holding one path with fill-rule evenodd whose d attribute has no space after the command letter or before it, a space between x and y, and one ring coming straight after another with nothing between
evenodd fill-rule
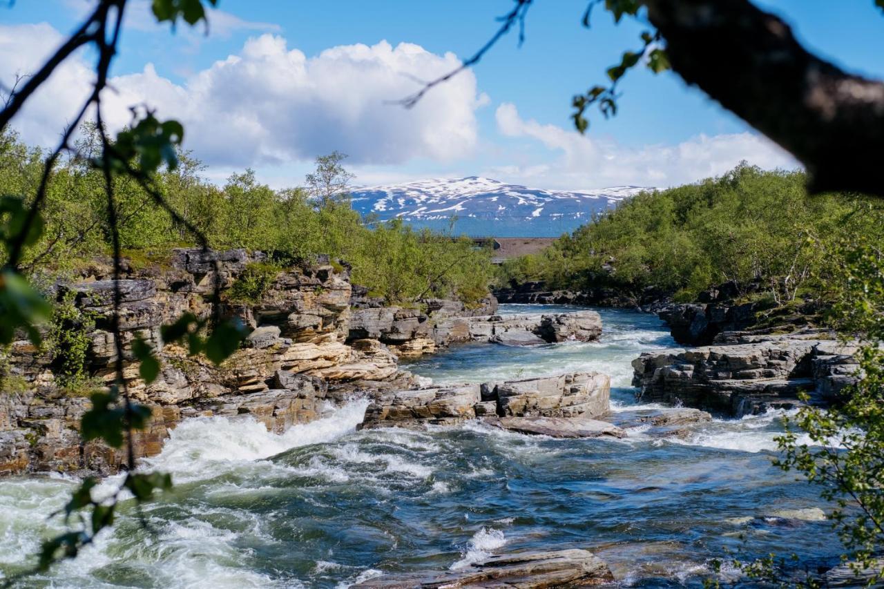
<instances>
[{"instance_id":1,"label":"dark hanging branches with blurred leaves in the left foreground","mask_svg":"<svg viewBox=\"0 0 884 589\"><path fill-rule=\"evenodd\" d=\"M72 558L82 547L91 544L98 532L113 524L118 498L124 491L132 493L136 501L149 501L155 491L171 487L171 477L162 472L141 473L135 470L132 432L141 429L150 417L150 409L133 402L129 398L124 379L123 338L119 329L119 308L122 302L120 288L121 250L125 235L121 230L126 221L149 206L165 210L171 221L187 228L189 233L208 250L209 242L195 226L171 208L156 185L156 172L162 167L174 170L178 164L178 148L184 136L184 127L177 121L156 119L153 111L133 107L131 125L111 137L103 124L103 91L107 86L110 65L118 52L118 40L123 26L127 0L100 0L93 11L83 20L80 27L47 59L46 63L33 75L16 80L15 85L4 96L4 108L0 111L0 136L6 143L10 137L11 120L21 110L37 88L50 78L58 65L65 62L80 48L95 50L95 82L92 92L80 106L80 111L62 134L57 147L45 155L42 170L34 190L33 198L27 200L22 193L0 197L0 246L3 248L0 268L0 345L9 344L20 332L39 345L41 327L52 315L50 302L34 288L23 272L28 249L41 240L43 222L42 210L50 190L59 158L67 154L82 162L84 172L100 179L97 185L104 201L105 217L103 229L109 234L113 253L113 312L110 317L110 333L116 345L114 362L115 379L108 392L92 394L92 408L82 417L80 433L84 440L100 439L112 447L127 446L128 471L116 493L107 500L96 499L92 490L97 481L86 478L72 493L71 500L64 508L65 522L70 522L74 514L79 515L80 524L73 524L69 530L42 543L35 570L46 570L53 562ZM217 4L217 0L207 0ZM153 11L159 22L174 25L183 19L189 25L205 19L202 0L154 0ZM23 80L24 83L20 83ZM89 129L88 142L72 143L74 133L80 128L88 112L95 113L95 126ZM41 154L43 155L43 154ZM129 203L134 212L128 218L124 212L125 199L120 198L120 184L134 183L141 187L144 195L141 203ZM27 193L26 193L27 194ZM63 235L58 235L61 239ZM216 272L219 274L219 272ZM216 280L215 296L220 291L220 281ZM216 305L217 307L217 305ZM199 332L210 327L210 335L203 338ZM215 363L222 362L239 346L245 336L243 327L232 322L221 322L218 317L209 321L198 320L185 313L161 330L163 340L171 343L187 340L193 354L205 352ZM160 366L154 350L144 340L135 340L132 353L140 361L139 373L146 382L156 379Z\"/></svg>"}]
</instances>

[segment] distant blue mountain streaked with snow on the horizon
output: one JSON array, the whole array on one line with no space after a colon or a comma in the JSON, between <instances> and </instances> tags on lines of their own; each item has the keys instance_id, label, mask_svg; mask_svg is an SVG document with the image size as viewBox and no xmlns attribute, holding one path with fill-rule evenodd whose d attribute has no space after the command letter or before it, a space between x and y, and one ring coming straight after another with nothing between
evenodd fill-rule
<instances>
[{"instance_id":1,"label":"distant blue mountain streaked with snow on the horizon","mask_svg":"<svg viewBox=\"0 0 884 589\"><path fill-rule=\"evenodd\" d=\"M419 180L352 191L354 210L413 226L443 229L456 216L454 233L495 237L556 237L574 231L593 213L615 206L646 187L541 190L470 176Z\"/></svg>"}]
</instances>

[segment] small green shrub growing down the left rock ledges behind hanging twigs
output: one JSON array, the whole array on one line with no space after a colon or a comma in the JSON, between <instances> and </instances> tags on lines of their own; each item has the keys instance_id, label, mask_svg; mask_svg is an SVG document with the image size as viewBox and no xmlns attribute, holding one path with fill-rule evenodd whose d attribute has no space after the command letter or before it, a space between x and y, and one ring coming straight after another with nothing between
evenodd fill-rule
<instances>
[{"instance_id":1,"label":"small green shrub growing down the left rock ledges behind hanging twigs","mask_svg":"<svg viewBox=\"0 0 884 589\"><path fill-rule=\"evenodd\" d=\"M89 334L95 331L95 317L80 310L74 296L66 292L52 309L46 341L58 384L69 390L81 389L88 381Z\"/></svg>"}]
</instances>

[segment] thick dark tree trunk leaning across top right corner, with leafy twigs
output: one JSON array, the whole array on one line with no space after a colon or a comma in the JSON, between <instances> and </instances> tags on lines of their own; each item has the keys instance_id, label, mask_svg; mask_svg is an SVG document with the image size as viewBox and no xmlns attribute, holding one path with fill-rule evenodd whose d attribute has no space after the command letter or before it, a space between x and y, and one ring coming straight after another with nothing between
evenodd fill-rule
<instances>
[{"instance_id":1,"label":"thick dark tree trunk leaning across top right corner, with leafy twigs","mask_svg":"<svg viewBox=\"0 0 884 589\"><path fill-rule=\"evenodd\" d=\"M476 65L513 28L522 42L537 1L514 0L483 47L402 103L413 106L434 86ZM884 10L882 0L874 4ZM620 63L608 68L606 83L574 96L573 119L581 133L591 107L605 117L617 113L617 84L630 69L672 69L795 156L810 174L812 193L884 195L878 157L884 150L884 83L813 55L789 25L750 0L587 0L584 27L598 6L616 22L629 17L652 27L635 50L624 51Z\"/></svg>"}]
</instances>

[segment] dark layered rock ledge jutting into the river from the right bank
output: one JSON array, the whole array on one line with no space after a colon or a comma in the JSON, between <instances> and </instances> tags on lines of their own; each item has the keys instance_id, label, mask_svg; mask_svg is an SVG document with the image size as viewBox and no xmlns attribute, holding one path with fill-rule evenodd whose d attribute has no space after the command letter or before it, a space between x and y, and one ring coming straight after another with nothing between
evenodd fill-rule
<instances>
[{"instance_id":1,"label":"dark layered rock ledge jutting into the river from the right bank","mask_svg":"<svg viewBox=\"0 0 884 589\"><path fill-rule=\"evenodd\" d=\"M736 417L833 399L855 381L857 348L821 333L759 336L721 334L718 345L633 361L633 385L648 402L683 403Z\"/></svg>"}]
</instances>

